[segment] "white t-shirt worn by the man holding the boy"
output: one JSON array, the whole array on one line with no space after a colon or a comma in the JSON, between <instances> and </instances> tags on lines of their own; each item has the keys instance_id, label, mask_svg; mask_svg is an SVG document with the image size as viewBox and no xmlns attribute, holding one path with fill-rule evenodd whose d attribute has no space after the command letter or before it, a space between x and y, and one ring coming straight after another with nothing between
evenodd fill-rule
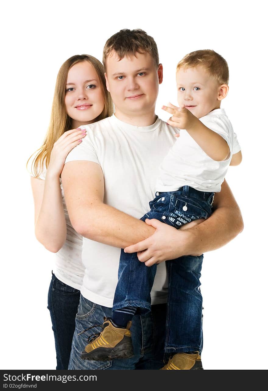
<instances>
[{"instance_id":1,"label":"white t-shirt worn by the man holding the boy","mask_svg":"<svg viewBox=\"0 0 268 391\"><path fill-rule=\"evenodd\" d=\"M178 129L159 118L151 126L133 126L115 115L80 127L87 130L87 135L72 149L65 163L87 160L100 164L105 183L104 203L141 218L149 210L149 201L154 199L159 165L174 144ZM101 215L99 219L100 224L109 225L109 221L101 220ZM85 277L81 294L85 298L112 307L119 259L120 248L83 238ZM167 301L165 262L157 267L151 298L152 304Z\"/></svg>"}]
</instances>

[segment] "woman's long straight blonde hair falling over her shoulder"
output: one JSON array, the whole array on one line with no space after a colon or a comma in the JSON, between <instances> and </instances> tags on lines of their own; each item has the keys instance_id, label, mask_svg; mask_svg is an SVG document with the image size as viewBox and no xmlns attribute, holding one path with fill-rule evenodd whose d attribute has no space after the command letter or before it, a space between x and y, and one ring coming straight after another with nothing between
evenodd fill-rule
<instances>
[{"instance_id":1,"label":"woman's long straight blonde hair falling over her shoulder","mask_svg":"<svg viewBox=\"0 0 268 391\"><path fill-rule=\"evenodd\" d=\"M104 76L104 67L99 60L97 60L93 56L89 56L88 54L77 54L75 56L67 59L61 66L54 91L54 98L52 104L51 118L49 123L49 128L47 130L47 134L45 136L45 140L42 146L36 151L36 157L33 160L31 165L31 171L37 178L42 172L42 167L45 162L46 168L49 165L50 155L53 148L54 143L58 140L58 138L63 135L63 133L67 130L72 129L72 118L66 112L65 108L65 88L67 76L70 68L83 61L88 61L91 63L93 68L96 70L98 77L100 79L100 86L103 93L104 98L104 108L100 115L95 118L95 122L102 120L103 118L109 117L112 115L113 106L112 99L110 93L106 89L106 82ZM32 156L36 153L34 152L29 160L31 160ZM29 163L27 161L27 165Z\"/></svg>"}]
</instances>

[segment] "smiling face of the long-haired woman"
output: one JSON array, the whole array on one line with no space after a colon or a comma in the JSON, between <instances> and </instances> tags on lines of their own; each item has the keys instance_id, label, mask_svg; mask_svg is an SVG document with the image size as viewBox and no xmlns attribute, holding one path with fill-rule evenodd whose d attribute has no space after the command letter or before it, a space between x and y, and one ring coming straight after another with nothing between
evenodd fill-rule
<instances>
[{"instance_id":1,"label":"smiling face of the long-haired woman","mask_svg":"<svg viewBox=\"0 0 268 391\"><path fill-rule=\"evenodd\" d=\"M70 68L65 86L65 107L72 127L91 124L104 108L104 98L96 70L83 61Z\"/></svg>"}]
</instances>

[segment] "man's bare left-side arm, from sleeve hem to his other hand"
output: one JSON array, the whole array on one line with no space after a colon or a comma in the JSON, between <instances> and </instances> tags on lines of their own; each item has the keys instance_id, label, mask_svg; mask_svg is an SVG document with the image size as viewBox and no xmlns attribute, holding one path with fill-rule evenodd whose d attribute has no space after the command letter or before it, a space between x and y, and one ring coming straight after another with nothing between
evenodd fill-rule
<instances>
[{"instance_id":1,"label":"man's bare left-side arm, from sleeve hem to his other hand","mask_svg":"<svg viewBox=\"0 0 268 391\"><path fill-rule=\"evenodd\" d=\"M66 163L62 184L72 226L84 237L124 248L154 233L143 221L103 203L104 180L98 163Z\"/></svg>"}]
</instances>

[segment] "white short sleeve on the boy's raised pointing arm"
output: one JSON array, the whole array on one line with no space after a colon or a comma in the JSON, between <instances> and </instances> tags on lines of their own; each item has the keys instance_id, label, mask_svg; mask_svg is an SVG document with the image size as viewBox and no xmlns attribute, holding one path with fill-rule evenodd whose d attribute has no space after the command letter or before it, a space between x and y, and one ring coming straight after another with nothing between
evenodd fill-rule
<instances>
[{"instance_id":1,"label":"white short sleeve on the boy's raised pointing arm","mask_svg":"<svg viewBox=\"0 0 268 391\"><path fill-rule=\"evenodd\" d=\"M228 147L232 153L232 126L228 120L228 117L221 115L206 115L199 118L199 120L209 129L220 135L225 139Z\"/></svg>"}]
</instances>

